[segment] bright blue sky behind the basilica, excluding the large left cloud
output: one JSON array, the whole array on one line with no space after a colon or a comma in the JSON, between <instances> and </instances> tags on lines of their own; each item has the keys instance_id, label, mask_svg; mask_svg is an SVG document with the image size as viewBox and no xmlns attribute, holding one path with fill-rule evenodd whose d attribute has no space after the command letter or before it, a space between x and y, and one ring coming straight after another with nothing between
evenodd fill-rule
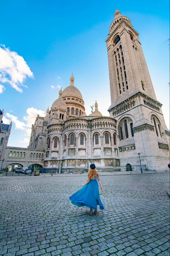
<instances>
[{"instance_id":1,"label":"bright blue sky behind the basilica, excluding the large left cloud","mask_svg":"<svg viewBox=\"0 0 170 256\"><path fill-rule=\"evenodd\" d=\"M0 44L23 57L29 74L19 77L23 79L22 93L10 82L0 83L6 88L0 94L0 109L13 121L8 146L28 146L36 110L41 114L51 107L58 98L57 86L67 87L72 72L75 86L83 95L86 114L90 114L90 105L97 100L99 111L109 115L105 40L115 9L127 16L139 33L169 129L169 46L165 42L169 38L169 1L160 5L159 1L7 0L0 1L0 6Z\"/></svg>"}]
</instances>

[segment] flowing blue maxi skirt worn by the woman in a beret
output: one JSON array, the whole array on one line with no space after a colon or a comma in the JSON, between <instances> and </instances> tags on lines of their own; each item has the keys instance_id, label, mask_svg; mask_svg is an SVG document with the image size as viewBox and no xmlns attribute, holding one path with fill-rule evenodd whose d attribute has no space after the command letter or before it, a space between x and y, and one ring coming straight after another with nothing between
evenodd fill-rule
<instances>
[{"instance_id":1,"label":"flowing blue maxi skirt worn by the woman in a beret","mask_svg":"<svg viewBox=\"0 0 170 256\"><path fill-rule=\"evenodd\" d=\"M99 187L97 180L91 180L88 184L84 185L75 194L69 197L73 205L78 207L86 206L93 210L97 210L97 205L103 210L103 204L99 196Z\"/></svg>"}]
</instances>

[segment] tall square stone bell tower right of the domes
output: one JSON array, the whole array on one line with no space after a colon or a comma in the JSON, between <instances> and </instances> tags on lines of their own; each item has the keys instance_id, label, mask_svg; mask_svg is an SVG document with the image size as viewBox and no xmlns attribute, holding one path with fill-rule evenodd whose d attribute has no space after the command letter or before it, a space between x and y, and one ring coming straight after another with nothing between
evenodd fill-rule
<instances>
[{"instance_id":1,"label":"tall square stone bell tower right of the domes","mask_svg":"<svg viewBox=\"0 0 170 256\"><path fill-rule=\"evenodd\" d=\"M138 164L140 153L148 169L167 169L169 130L138 35L130 19L116 10L106 39L111 92L108 111L117 120L121 164Z\"/></svg>"}]
</instances>

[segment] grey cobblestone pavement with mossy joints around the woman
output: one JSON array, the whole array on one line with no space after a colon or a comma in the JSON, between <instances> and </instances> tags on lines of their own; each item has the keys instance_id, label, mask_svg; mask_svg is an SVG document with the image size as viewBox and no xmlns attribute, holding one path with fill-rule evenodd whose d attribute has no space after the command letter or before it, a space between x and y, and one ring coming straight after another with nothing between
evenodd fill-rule
<instances>
[{"instance_id":1,"label":"grey cobblestone pavement with mossy joints around the woman","mask_svg":"<svg viewBox=\"0 0 170 256\"><path fill-rule=\"evenodd\" d=\"M0 178L0 255L169 256L169 173L101 176L98 216L68 200L85 181Z\"/></svg>"}]
</instances>

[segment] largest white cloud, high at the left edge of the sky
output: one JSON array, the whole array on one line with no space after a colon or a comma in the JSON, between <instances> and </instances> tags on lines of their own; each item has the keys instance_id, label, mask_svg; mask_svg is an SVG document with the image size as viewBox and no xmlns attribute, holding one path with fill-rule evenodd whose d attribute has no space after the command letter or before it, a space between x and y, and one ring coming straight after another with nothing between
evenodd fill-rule
<instances>
[{"instance_id":1,"label":"largest white cloud, high at the left edge of the sky","mask_svg":"<svg viewBox=\"0 0 170 256\"><path fill-rule=\"evenodd\" d=\"M0 45L0 82L9 83L16 91L22 93L20 86L24 86L23 82L27 77L34 78L34 75L24 58L5 45Z\"/></svg>"}]
</instances>

